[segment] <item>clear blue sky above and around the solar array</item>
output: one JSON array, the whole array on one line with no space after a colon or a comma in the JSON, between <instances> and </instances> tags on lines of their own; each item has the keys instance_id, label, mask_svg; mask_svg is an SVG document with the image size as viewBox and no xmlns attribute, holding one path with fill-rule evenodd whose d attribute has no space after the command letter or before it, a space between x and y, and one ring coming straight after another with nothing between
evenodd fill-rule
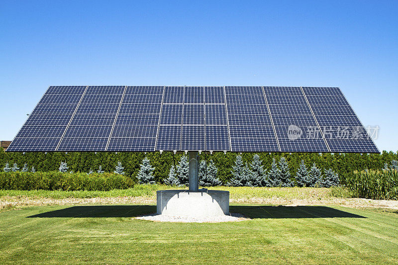
<instances>
[{"instance_id":1,"label":"clear blue sky above and around the solar array","mask_svg":"<svg viewBox=\"0 0 398 265\"><path fill-rule=\"evenodd\" d=\"M0 2L0 140L50 85L340 87L398 150L398 1Z\"/></svg>"}]
</instances>

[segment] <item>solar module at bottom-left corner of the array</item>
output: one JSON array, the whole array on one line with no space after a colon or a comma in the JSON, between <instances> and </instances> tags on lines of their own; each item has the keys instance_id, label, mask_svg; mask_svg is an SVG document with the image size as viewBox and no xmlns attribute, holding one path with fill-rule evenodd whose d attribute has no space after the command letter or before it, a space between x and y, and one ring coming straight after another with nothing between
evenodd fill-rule
<instances>
[{"instance_id":1,"label":"solar module at bottom-left corner of the array","mask_svg":"<svg viewBox=\"0 0 398 265\"><path fill-rule=\"evenodd\" d=\"M61 138L15 138L7 152L55 151Z\"/></svg>"}]
</instances>

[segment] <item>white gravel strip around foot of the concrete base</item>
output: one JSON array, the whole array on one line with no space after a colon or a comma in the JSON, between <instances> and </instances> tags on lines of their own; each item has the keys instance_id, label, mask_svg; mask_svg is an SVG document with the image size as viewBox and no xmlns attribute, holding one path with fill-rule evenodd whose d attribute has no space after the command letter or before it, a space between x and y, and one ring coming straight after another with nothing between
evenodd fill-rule
<instances>
[{"instance_id":1,"label":"white gravel strip around foot of the concrete base","mask_svg":"<svg viewBox=\"0 0 398 265\"><path fill-rule=\"evenodd\" d=\"M239 222L250 220L240 213L229 213L229 215L218 215L211 217L179 217L167 216L162 214L148 214L132 219L149 220L154 222L180 222L180 223L220 223L220 222Z\"/></svg>"}]
</instances>

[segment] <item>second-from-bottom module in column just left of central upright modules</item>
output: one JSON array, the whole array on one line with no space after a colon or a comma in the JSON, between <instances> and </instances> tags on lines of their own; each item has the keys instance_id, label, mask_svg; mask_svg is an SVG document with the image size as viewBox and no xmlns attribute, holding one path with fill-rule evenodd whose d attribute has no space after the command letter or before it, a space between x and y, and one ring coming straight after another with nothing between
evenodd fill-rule
<instances>
[{"instance_id":1,"label":"second-from-bottom module in column just left of central upright modules","mask_svg":"<svg viewBox=\"0 0 398 265\"><path fill-rule=\"evenodd\" d=\"M157 125L115 125L111 137L156 138L157 130Z\"/></svg>"}]
</instances>

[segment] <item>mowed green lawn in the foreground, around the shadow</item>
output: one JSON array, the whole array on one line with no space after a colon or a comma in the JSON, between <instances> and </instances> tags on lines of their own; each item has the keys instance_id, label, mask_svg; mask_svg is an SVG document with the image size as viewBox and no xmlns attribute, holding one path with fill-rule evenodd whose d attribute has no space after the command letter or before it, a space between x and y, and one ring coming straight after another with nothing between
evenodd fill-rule
<instances>
[{"instance_id":1,"label":"mowed green lawn in the foreground, around the shadow","mask_svg":"<svg viewBox=\"0 0 398 265\"><path fill-rule=\"evenodd\" d=\"M0 263L391 264L398 212L232 205L227 223L131 219L154 205L35 206L0 212Z\"/></svg>"}]
</instances>

